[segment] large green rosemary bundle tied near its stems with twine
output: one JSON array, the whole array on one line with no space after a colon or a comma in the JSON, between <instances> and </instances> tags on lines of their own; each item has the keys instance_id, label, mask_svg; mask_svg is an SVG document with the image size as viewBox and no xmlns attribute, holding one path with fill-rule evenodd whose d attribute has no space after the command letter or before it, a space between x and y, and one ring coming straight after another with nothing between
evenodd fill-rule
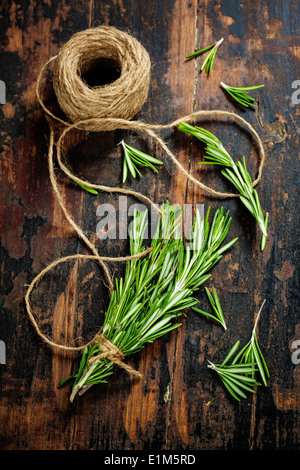
<instances>
[{"instance_id":1,"label":"large green rosemary bundle tied near its stems with twine","mask_svg":"<svg viewBox=\"0 0 300 470\"><path fill-rule=\"evenodd\" d=\"M130 229L130 254L144 250L147 212L136 211ZM115 290L105 314L102 337L123 358L143 349L181 324L176 319L198 301L193 293L210 277L209 271L223 253L237 240L227 242L231 218L218 209L209 222L210 210L201 218L196 211L190 240L180 237L181 213L169 204L162 208L157 229L151 240L151 252L143 259L126 264L124 277L116 279ZM74 379L70 401L94 384L106 383L115 362L103 357L101 341L85 348L78 371L63 380Z\"/></svg>"}]
</instances>

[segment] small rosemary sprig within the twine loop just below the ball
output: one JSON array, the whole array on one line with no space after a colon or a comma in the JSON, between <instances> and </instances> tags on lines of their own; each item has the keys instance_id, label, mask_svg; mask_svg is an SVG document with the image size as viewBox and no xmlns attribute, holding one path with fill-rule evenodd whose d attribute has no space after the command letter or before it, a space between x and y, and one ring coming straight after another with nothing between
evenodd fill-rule
<instances>
[{"instance_id":1,"label":"small rosemary sprig within the twine loop just below the ball","mask_svg":"<svg viewBox=\"0 0 300 470\"><path fill-rule=\"evenodd\" d=\"M136 175L142 176L140 171L137 168L138 166L142 167L149 167L155 173L158 172L157 168L154 165L162 165L163 162L158 160L157 158L151 157L140 150L131 147L130 145L126 144L124 140L121 142L123 150L124 150L124 158L123 158L123 183L125 183L128 175L128 171L131 173L133 178L136 178Z\"/></svg>"}]
</instances>

